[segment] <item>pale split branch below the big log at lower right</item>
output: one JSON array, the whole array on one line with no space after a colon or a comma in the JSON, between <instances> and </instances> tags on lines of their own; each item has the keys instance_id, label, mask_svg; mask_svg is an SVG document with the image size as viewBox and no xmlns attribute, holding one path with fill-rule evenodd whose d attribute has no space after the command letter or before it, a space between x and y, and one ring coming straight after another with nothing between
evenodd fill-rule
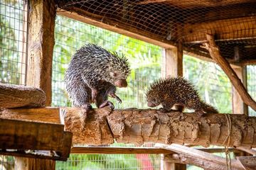
<instances>
[{"instance_id":1,"label":"pale split branch below the big log at lower right","mask_svg":"<svg viewBox=\"0 0 256 170\"><path fill-rule=\"evenodd\" d=\"M164 159L168 160L169 162L175 162L179 164L192 164L208 170L227 169L225 158L218 157L213 154L208 154L206 152L193 149L191 147L185 147L185 146L176 145L176 144L172 144L172 145L157 144L156 147L169 149L177 153L177 154L169 154L164 157ZM235 169L244 170L240 162L235 159L231 160L231 167L233 170Z\"/></svg>"}]
</instances>

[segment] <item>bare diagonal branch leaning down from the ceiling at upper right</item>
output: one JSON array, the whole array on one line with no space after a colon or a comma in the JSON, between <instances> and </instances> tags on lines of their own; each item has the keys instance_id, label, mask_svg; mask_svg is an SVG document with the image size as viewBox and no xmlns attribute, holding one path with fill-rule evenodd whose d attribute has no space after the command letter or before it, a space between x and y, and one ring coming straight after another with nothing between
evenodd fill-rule
<instances>
[{"instance_id":1,"label":"bare diagonal branch leaning down from the ceiling at upper right","mask_svg":"<svg viewBox=\"0 0 256 170\"><path fill-rule=\"evenodd\" d=\"M213 57L213 60L215 60L215 62L217 62L223 69L225 74L227 74L231 83L240 94L242 101L244 101L248 106L250 106L253 110L256 111L256 102L252 99L250 94L247 93L245 86L243 86L241 80L238 78L238 75L235 74L234 70L230 67L228 61L220 55L220 50L218 46L215 44L213 35L206 34L206 38L208 42L206 42L204 45L206 49L209 51L210 56Z\"/></svg>"}]
</instances>

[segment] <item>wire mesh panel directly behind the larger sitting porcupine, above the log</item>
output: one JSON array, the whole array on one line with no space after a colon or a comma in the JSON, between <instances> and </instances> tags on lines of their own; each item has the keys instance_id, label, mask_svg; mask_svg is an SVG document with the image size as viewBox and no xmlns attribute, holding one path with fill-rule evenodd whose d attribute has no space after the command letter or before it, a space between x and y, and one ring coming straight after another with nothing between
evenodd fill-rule
<instances>
[{"instance_id":1,"label":"wire mesh panel directly behind the larger sitting porcupine, above the log","mask_svg":"<svg viewBox=\"0 0 256 170\"><path fill-rule=\"evenodd\" d=\"M146 108L146 88L154 79L161 77L161 47L62 16L57 16L55 24L53 106L70 106L63 84L64 72L75 50L86 42L122 53L131 64L132 73L127 79L128 88L117 90L123 103L120 105L113 101L116 108Z\"/></svg>"}]
</instances>

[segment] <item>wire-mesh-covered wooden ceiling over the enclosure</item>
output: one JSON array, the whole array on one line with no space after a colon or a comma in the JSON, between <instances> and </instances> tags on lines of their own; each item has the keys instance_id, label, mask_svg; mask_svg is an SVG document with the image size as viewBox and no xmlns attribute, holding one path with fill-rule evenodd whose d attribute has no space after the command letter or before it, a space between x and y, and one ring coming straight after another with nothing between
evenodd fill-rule
<instances>
[{"instance_id":1,"label":"wire-mesh-covered wooden ceiling over the enclosure","mask_svg":"<svg viewBox=\"0 0 256 170\"><path fill-rule=\"evenodd\" d=\"M220 52L230 60L254 57L255 0L56 0L65 11L163 42L182 41L189 52L208 55L201 48L206 33L215 35ZM234 57L234 47L242 51Z\"/></svg>"}]
</instances>

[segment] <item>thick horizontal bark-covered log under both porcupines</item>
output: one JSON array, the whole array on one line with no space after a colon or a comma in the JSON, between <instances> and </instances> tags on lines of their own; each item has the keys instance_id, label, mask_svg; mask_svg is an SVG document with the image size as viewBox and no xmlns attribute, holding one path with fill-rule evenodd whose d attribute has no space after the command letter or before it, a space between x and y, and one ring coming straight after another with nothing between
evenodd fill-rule
<instances>
[{"instance_id":1,"label":"thick horizontal bark-covered log under both porcupines","mask_svg":"<svg viewBox=\"0 0 256 170\"><path fill-rule=\"evenodd\" d=\"M73 132L73 144L107 145L113 140L124 143L228 145L256 147L256 118L245 115L159 113L158 110L95 109L88 113L82 127L80 108L65 111L65 130ZM231 124L228 126L228 117ZM230 142L228 140L230 129Z\"/></svg>"}]
</instances>

